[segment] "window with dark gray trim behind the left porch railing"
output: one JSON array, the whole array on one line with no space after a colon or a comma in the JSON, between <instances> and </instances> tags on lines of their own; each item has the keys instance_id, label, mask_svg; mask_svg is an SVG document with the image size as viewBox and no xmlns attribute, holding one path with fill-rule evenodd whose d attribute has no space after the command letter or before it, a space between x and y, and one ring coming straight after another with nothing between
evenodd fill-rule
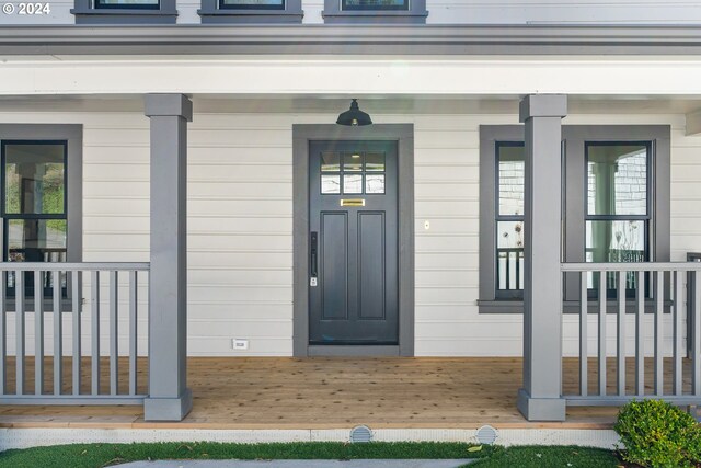
<instances>
[{"instance_id":1,"label":"window with dark gray trim behind the left porch railing","mask_svg":"<svg viewBox=\"0 0 701 468\"><path fill-rule=\"evenodd\" d=\"M81 152L80 125L0 124L3 262L82 260ZM44 276L45 295L51 294L53 279ZM15 282L9 273L9 298ZM32 273L24 285L33 297ZM61 286L66 296L66 283Z\"/></svg>"}]
</instances>

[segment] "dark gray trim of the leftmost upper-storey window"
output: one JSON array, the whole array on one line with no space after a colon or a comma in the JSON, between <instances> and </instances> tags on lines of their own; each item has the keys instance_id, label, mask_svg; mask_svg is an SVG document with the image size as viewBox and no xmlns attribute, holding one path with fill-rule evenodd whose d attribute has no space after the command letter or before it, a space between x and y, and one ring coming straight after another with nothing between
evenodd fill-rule
<instances>
[{"instance_id":1,"label":"dark gray trim of the leftmost upper-storey window","mask_svg":"<svg viewBox=\"0 0 701 468\"><path fill-rule=\"evenodd\" d=\"M76 24L175 24L176 0L160 0L158 10L139 8L96 9L92 0L76 0L70 12Z\"/></svg>"}]
</instances>

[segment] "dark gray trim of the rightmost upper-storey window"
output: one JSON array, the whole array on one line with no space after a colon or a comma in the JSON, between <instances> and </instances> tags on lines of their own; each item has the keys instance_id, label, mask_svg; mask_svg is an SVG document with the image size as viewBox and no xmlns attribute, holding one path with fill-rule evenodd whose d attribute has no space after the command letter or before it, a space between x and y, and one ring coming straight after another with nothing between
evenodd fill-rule
<instances>
[{"instance_id":1,"label":"dark gray trim of the rightmost upper-storey window","mask_svg":"<svg viewBox=\"0 0 701 468\"><path fill-rule=\"evenodd\" d=\"M407 0L406 9L388 10L344 10L343 0L324 0L324 10L321 12L325 24L426 24L426 0Z\"/></svg>"}]
</instances>

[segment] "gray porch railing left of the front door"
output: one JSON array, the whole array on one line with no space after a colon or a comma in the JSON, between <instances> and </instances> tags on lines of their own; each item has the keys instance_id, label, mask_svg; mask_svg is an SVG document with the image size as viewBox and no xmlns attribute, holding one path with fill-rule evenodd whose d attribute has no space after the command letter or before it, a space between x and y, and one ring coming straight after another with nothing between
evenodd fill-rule
<instances>
[{"instance_id":1,"label":"gray porch railing left of the front door","mask_svg":"<svg viewBox=\"0 0 701 468\"><path fill-rule=\"evenodd\" d=\"M0 404L142 403L148 272L148 263L0 263Z\"/></svg>"}]
</instances>

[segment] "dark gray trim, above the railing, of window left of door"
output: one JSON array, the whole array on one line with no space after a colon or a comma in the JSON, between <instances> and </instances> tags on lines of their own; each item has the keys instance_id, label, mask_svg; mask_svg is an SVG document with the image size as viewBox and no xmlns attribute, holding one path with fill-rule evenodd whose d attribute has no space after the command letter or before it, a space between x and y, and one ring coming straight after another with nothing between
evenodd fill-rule
<instances>
[{"instance_id":1,"label":"dark gray trim, above the railing, of window left of door","mask_svg":"<svg viewBox=\"0 0 701 468\"><path fill-rule=\"evenodd\" d=\"M0 140L67 140L67 262L83 260L83 126L79 124L0 124Z\"/></svg>"}]
</instances>

